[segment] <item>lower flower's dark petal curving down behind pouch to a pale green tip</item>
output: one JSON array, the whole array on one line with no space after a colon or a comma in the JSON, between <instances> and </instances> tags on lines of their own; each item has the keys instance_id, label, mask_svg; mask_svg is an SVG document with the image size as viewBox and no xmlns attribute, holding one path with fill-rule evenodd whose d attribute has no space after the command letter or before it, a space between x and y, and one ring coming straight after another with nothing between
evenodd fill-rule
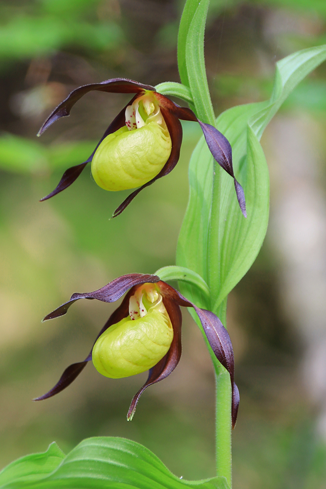
<instances>
[{"instance_id":1,"label":"lower flower's dark petal curving down behind pouch to a pale green tip","mask_svg":"<svg viewBox=\"0 0 326 489\"><path fill-rule=\"evenodd\" d=\"M166 307L166 310L168 311L174 330L171 347L168 353L154 367L151 368L147 381L133 397L127 414L128 421L132 420L132 417L135 414L138 400L144 390L150 385L155 384L156 382L159 382L160 380L168 377L179 363L181 357L181 311L179 306L177 306L175 304L175 301L170 297L163 297L163 303Z\"/></svg>"}]
</instances>

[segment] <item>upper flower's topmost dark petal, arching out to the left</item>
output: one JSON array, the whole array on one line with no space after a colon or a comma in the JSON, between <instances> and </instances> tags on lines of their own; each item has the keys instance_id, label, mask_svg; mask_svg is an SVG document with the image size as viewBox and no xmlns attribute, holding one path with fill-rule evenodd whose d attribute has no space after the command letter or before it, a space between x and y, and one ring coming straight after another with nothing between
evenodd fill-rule
<instances>
[{"instance_id":1,"label":"upper flower's topmost dark petal, arching out to the left","mask_svg":"<svg viewBox=\"0 0 326 489\"><path fill-rule=\"evenodd\" d=\"M86 93L92 90L114 92L114 93L143 93L145 90L155 91L151 85L143 85L142 83L129 80L128 78L111 78L101 83L91 83L83 85L78 89L73 90L67 98L49 115L44 122L38 135L40 136L53 122L69 115L71 108L75 103L82 98Z\"/></svg>"}]
</instances>

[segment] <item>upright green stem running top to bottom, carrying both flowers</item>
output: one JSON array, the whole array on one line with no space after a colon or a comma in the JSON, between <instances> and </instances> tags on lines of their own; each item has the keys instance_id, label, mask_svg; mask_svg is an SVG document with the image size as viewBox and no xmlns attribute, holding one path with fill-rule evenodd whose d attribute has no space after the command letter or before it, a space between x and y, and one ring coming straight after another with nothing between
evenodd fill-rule
<instances>
[{"instance_id":1,"label":"upright green stem running top to bottom, carrying both flowers","mask_svg":"<svg viewBox=\"0 0 326 489\"><path fill-rule=\"evenodd\" d=\"M197 117L203 122L215 125L215 115L208 89L204 59L204 34L209 0L187 0L180 22L178 36L178 66L181 82L188 86L194 101ZM211 290L211 304L215 304L219 292L219 263L217 263L216 246L219 245L219 203L221 176L220 167L214 164L214 183L211 224L208 230L208 286ZM215 249L214 253L213 250ZM218 280L213 281L212 278ZM219 305L218 317L226 325L226 302ZM205 334L204 334L205 338ZM230 488L232 484L231 455L231 382L229 373L219 363L212 348L208 344L216 374L216 457L217 475L226 478Z\"/></svg>"}]
</instances>

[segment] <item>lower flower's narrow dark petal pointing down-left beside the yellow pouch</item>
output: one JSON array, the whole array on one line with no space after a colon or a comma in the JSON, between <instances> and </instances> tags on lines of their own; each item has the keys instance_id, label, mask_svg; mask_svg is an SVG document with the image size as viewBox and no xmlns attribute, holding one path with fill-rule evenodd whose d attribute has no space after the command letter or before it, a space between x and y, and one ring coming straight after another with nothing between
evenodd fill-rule
<instances>
[{"instance_id":1,"label":"lower flower's narrow dark petal pointing down-left beside the yellow pouch","mask_svg":"<svg viewBox=\"0 0 326 489\"><path fill-rule=\"evenodd\" d=\"M121 321L121 319L128 316L129 299L132 293L133 290L130 290L129 293L124 298L124 300L122 301L121 305L110 315L109 320L105 323L100 333L98 333L98 335L96 336L92 349L90 350L89 355L85 358L85 360L83 362L73 363L72 365L69 365L69 367L65 369L65 372L60 377L59 382L57 382L56 385L52 387L52 389L50 389L46 394L43 394L43 396L40 396L33 400L48 399L54 396L55 394L58 394L59 392L63 391L66 387L68 387L68 385L70 385L71 382L73 382L73 380L75 380L75 378L79 376L82 370L84 370L84 368L86 367L87 362L89 362L92 359L93 347L97 339L101 336L101 334L104 333L110 326L112 326L112 324L116 324L119 321Z\"/></svg>"}]
</instances>

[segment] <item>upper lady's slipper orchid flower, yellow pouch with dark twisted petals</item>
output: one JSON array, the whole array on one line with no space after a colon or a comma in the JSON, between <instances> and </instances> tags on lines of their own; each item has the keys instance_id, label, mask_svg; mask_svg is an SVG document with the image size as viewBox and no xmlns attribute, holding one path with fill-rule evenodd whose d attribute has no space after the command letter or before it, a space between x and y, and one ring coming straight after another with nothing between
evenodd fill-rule
<instances>
[{"instance_id":1,"label":"upper lady's slipper orchid flower, yellow pouch with dark twisted petals","mask_svg":"<svg viewBox=\"0 0 326 489\"><path fill-rule=\"evenodd\" d=\"M118 216L143 188L174 169L180 155L182 127L179 119L182 119L199 122L212 155L234 178L239 205L246 217L244 193L234 176L229 141L215 127L198 120L193 111L174 104L151 85L112 78L79 87L46 119L38 135L60 117L69 115L73 105L91 90L136 95L111 122L89 158L68 168L53 192L41 200L65 190L91 162L92 175L100 187L113 191L139 187L116 209L113 217Z\"/></svg>"}]
</instances>

